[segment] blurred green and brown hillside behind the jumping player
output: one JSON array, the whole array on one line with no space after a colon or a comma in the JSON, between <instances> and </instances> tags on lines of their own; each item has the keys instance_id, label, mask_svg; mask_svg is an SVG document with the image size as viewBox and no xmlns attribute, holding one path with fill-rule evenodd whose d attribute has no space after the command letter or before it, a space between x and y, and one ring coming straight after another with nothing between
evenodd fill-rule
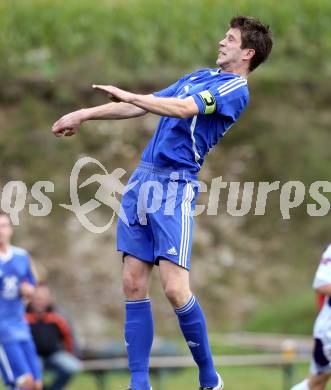
<instances>
[{"instance_id":1,"label":"blurred green and brown hillside behind the jumping player","mask_svg":"<svg viewBox=\"0 0 331 390\"><path fill-rule=\"evenodd\" d=\"M31 217L26 206L16 239L32 252L84 337L120 334L115 229L93 235L59 204L69 202L69 174L82 155L97 158L109 170L132 171L157 118L91 122L71 139L53 137L51 125L71 110L105 101L92 91L92 83L147 93L198 67L215 66L217 42L231 16L241 13L271 25L275 48L268 63L252 74L249 109L210 154L200 178L208 185L217 176L240 182L302 181L305 201L289 220L282 219L279 192L271 195L264 216L252 211L232 217L223 203L219 215L199 216L192 281L215 330L309 333L315 315L311 279L330 231L329 215L310 217L307 203L314 203L310 184L329 180L331 3L0 4L0 185L23 180L30 191L38 180L54 182L55 192L48 194L52 213ZM89 187L82 197L91 199L96 189ZM204 201L202 194L199 202ZM102 209L96 218L104 220L107 212ZM158 331L175 333L175 322L162 321L171 309L156 277L152 295Z\"/></svg>"}]
</instances>

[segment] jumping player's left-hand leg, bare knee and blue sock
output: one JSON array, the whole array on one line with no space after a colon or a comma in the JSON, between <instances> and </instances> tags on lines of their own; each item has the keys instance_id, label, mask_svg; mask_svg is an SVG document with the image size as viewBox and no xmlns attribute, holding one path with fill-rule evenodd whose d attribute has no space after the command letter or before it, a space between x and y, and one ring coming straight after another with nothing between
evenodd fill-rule
<instances>
[{"instance_id":1,"label":"jumping player's left-hand leg, bare knee and blue sock","mask_svg":"<svg viewBox=\"0 0 331 390\"><path fill-rule=\"evenodd\" d=\"M131 373L130 388L150 390L149 357L154 325L148 299L149 279L153 265L125 256L123 291L126 297L125 344Z\"/></svg>"}]
</instances>

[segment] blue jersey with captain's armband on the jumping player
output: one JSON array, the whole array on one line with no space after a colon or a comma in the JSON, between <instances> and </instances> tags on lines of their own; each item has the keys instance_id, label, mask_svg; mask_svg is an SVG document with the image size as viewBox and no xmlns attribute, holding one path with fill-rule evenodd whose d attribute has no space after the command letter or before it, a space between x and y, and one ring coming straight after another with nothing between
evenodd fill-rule
<instances>
[{"instance_id":1,"label":"blue jersey with captain's armband on the jumping player","mask_svg":"<svg viewBox=\"0 0 331 390\"><path fill-rule=\"evenodd\" d=\"M193 118L161 117L142 160L173 170L198 172L208 151L238 120L248 104L247 80L219 69L202 69L154 93L184 99L199 107Z\"/></svg>"}]
</instances>

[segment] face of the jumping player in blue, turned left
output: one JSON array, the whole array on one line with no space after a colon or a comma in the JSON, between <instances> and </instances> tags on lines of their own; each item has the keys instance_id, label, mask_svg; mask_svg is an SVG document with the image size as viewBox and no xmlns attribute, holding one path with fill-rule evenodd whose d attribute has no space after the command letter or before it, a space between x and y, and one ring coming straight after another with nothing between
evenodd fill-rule
<instances>
[{"instance_id":1,"label":"face of the jumping player in blue, turned left","mask_svg":"<svg viewBox=\"0 0 331 390\"><path fill-rule=\"evenodd\" d=\"M230 28L224 39L219 42L216 64L227 70L240 65L245 50L241 48L241 32L237 28Z\"/></svg>"}]
</instances>

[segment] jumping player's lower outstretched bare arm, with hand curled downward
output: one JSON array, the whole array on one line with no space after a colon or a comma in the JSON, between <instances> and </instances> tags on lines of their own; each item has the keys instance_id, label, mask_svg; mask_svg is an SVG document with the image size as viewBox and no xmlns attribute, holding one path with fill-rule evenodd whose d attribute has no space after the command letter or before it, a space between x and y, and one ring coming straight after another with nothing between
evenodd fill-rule
<instances>
[{"instance_id":1,"label":"jumping player's lower outstretched bare arm, with hand curled downward","mask_svg":"<svg viewBox=\"0 0 331 390\"><path fill-rule=\"evenodd\" d=\"M101 106L83 108L61 117L52 127L56 137L74 135L80 125L92 119L127 119L142 116L146 110L129 103L108 103Z\"/></svg>"}]
</instances>

